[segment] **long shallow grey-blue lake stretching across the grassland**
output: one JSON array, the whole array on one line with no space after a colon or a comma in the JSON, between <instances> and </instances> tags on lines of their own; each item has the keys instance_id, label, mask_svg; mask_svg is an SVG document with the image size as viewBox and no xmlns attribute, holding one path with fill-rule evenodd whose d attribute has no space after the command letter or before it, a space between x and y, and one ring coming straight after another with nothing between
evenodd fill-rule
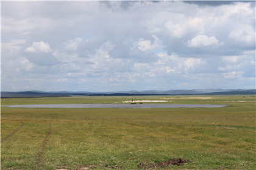
<instances>
[{"instance_id":1,"label":"long shallow grey-blue lake stretching across the grassland","mask_svg":"<svg viewBox=\"0 0 256 170\"><path fill-rule=\"evenodd\" d=\"M180 107L225 107L221 104L26 104L7 107L27 108L180 108Z\"/></svg>"}]
</instances>

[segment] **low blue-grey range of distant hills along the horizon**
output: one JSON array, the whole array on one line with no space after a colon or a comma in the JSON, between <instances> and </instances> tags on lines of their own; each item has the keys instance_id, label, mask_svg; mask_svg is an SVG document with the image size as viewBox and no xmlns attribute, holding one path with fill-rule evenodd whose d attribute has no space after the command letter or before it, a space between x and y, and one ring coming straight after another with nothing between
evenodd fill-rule
<instances>
[{"instance_id":1,"label":"low blue-grey range of distant hills along the horizon","mask_svg":"<svg viewBox=\"0 0 256 170\"><path fill-rule=\"evenodd\" d=\"M193 89L193 90L143 90L143 91L120 91L120 92L1 92L1 98L8 97L68 97L72 95L256 95L255 89Z\"/></svg>"}]
</instances>

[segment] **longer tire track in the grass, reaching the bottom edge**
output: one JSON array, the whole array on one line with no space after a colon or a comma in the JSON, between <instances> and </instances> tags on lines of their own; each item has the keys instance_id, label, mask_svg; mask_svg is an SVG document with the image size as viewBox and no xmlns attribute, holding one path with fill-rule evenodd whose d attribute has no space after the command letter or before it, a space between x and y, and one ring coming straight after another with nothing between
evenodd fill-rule
<instances>
[{"instance_id":1,"label":"longer tire track in the grass, reaching the bottom edge","mask_svg":"<svg viewBox=\"0 0 256 170\"><path fill-rule=\"evenodd\" d=\"M51 125L51 123L49 123L48 132L46 133L44 140L41 143L41 146L40 146L38 154L37 154L37 162L35 164L37 169L41 169L44 166L43 156L44 156L45 146L48 143L49 137L51 134L52 134L52 125Z\"/></svg>"}]
</instances>

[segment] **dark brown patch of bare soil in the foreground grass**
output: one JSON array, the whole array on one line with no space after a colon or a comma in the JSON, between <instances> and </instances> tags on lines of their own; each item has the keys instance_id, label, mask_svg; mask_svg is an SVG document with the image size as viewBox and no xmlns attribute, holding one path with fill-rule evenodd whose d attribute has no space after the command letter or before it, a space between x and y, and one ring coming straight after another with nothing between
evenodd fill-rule
<instances>
[{"instance_id":1,"label":"dark brown patch of bare soil in the foreground grass","mask_svg":"<svg viewBox=\"0 0 256 170\"><path fill-rule=\"evenodd\" d=\"M177 165L177 166L182 166L185 165L187 163L189 163L190 160L183 160L182 158L179 159L174 159L174 160L167 160L167 161L162 161L160 163L156 163L155 165L147 165L144 163L140 163L140 165L138 165L138 168L143 168L143 169L154 169L154 168L165 168L169 165Z\"/></svg>"}]
</instances>

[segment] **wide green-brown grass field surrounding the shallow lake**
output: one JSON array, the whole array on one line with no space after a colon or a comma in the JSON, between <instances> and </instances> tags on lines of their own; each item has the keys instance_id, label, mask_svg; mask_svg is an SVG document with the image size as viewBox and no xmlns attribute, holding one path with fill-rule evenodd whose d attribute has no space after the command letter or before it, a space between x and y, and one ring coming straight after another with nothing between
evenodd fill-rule
<instances>
[{"instance_id":1,"label":"wide green-brown grass field surrounding the shallow lake","mask_svg":"<svg viewBox=\"0 0 256 170\"><path fill-rule=\"evenodd\" d=\"M229 106L1 107L1 169L256 169L254 95L3 98L1 106L125 100ZM166 165L179 158L189 162Z\"/></svg>"}]
</instances>

